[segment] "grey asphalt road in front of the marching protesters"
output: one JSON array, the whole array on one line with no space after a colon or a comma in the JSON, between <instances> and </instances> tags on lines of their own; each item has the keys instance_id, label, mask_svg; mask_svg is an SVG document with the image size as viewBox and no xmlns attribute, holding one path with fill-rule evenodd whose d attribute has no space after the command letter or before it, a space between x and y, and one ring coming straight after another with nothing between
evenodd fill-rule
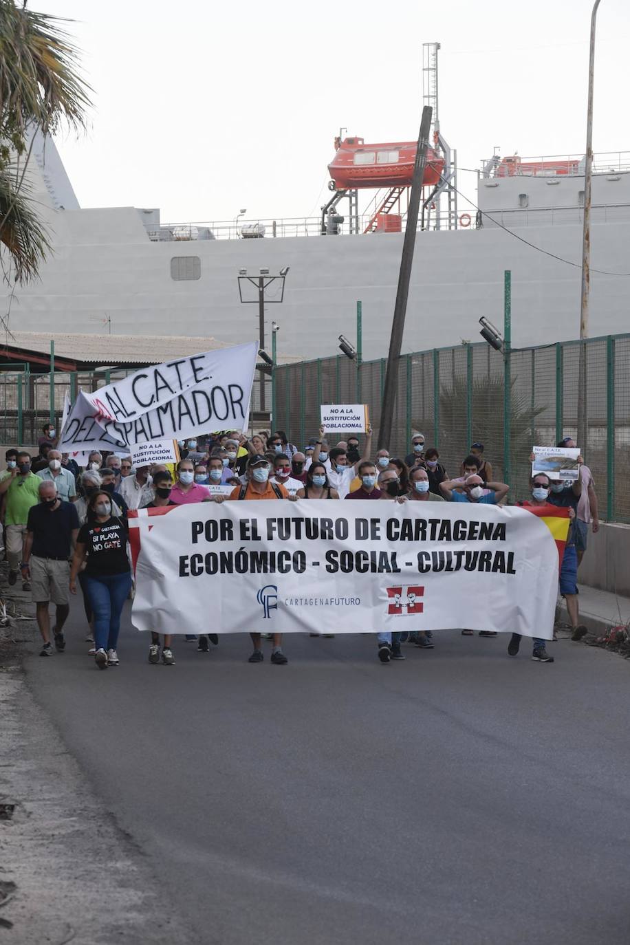
<instances>
[{"instance_id":1,"label":"grey asphalt road in front of the marching protesters","mask_svg":"<svg viewBox=\"0 0 630 945\"><path fill-rule=\"evenodd\" d=\"M445 631L388 665L232 635L164 667L127 617L101 672L78 605L29 684L195 943L627 945L628 662Z\"/></svg>"}]
</instances>

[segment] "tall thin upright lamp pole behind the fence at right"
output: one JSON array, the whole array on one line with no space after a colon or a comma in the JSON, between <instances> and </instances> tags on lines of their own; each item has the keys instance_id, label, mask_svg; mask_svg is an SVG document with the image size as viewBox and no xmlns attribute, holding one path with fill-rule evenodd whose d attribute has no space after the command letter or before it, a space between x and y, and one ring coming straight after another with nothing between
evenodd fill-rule
<instances>
[{"instance_id":1,"label":"tall thin upright lamp pole behind the fence at right","mask_svg":"<svg viewBox=\"0 0 630 945\"><path fill-rule=\"evenodd\" d=\"M588 53L587 152L584 167L584 214L582 235L582 299L580 303L580 366L577 391L577 436L587 449L587 346L588 301L590 295L590 190L593 168L593 87L595 81L595 26L600 0L595 0L590 14Z\"/></svg>"}]
</instances>

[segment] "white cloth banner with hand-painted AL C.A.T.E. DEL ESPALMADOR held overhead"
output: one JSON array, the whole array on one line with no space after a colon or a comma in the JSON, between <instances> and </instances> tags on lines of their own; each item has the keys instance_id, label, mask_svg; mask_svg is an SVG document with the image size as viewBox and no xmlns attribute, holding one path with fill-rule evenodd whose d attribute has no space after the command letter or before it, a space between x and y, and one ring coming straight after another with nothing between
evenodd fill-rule
<instances>
[{"instance_id":1,"label":"white cloth banner with hand-painted AL C.A.T.E. DEL ESPALMADOR held overhead","mask_svg":"<svg viewBox=\"0 0 630 945\"><path fill-rule=\"evenodd\" d=\"M176 358L81 391L60 450L127 450L132 443L247 430L258 343Z\"/></svg>"}]
</instances>

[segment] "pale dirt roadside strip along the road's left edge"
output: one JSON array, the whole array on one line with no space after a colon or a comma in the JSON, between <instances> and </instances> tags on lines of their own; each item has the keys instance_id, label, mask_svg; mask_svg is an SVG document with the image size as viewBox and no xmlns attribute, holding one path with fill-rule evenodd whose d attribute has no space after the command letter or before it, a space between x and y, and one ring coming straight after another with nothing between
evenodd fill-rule
<instances>
[{"instance_id":1,"label":"pale dirt roadside strip along the road's left edge","mask_svg":"<svg viewBox=\"0 0 630 945\"><path fill-rule=\"evenodd\" d=\"M32 615L13 591L9 611ZM38 638L33 620L0 627L0 942L196 945L33 701L21 661Z\"/></svg>"}]
</instances>

